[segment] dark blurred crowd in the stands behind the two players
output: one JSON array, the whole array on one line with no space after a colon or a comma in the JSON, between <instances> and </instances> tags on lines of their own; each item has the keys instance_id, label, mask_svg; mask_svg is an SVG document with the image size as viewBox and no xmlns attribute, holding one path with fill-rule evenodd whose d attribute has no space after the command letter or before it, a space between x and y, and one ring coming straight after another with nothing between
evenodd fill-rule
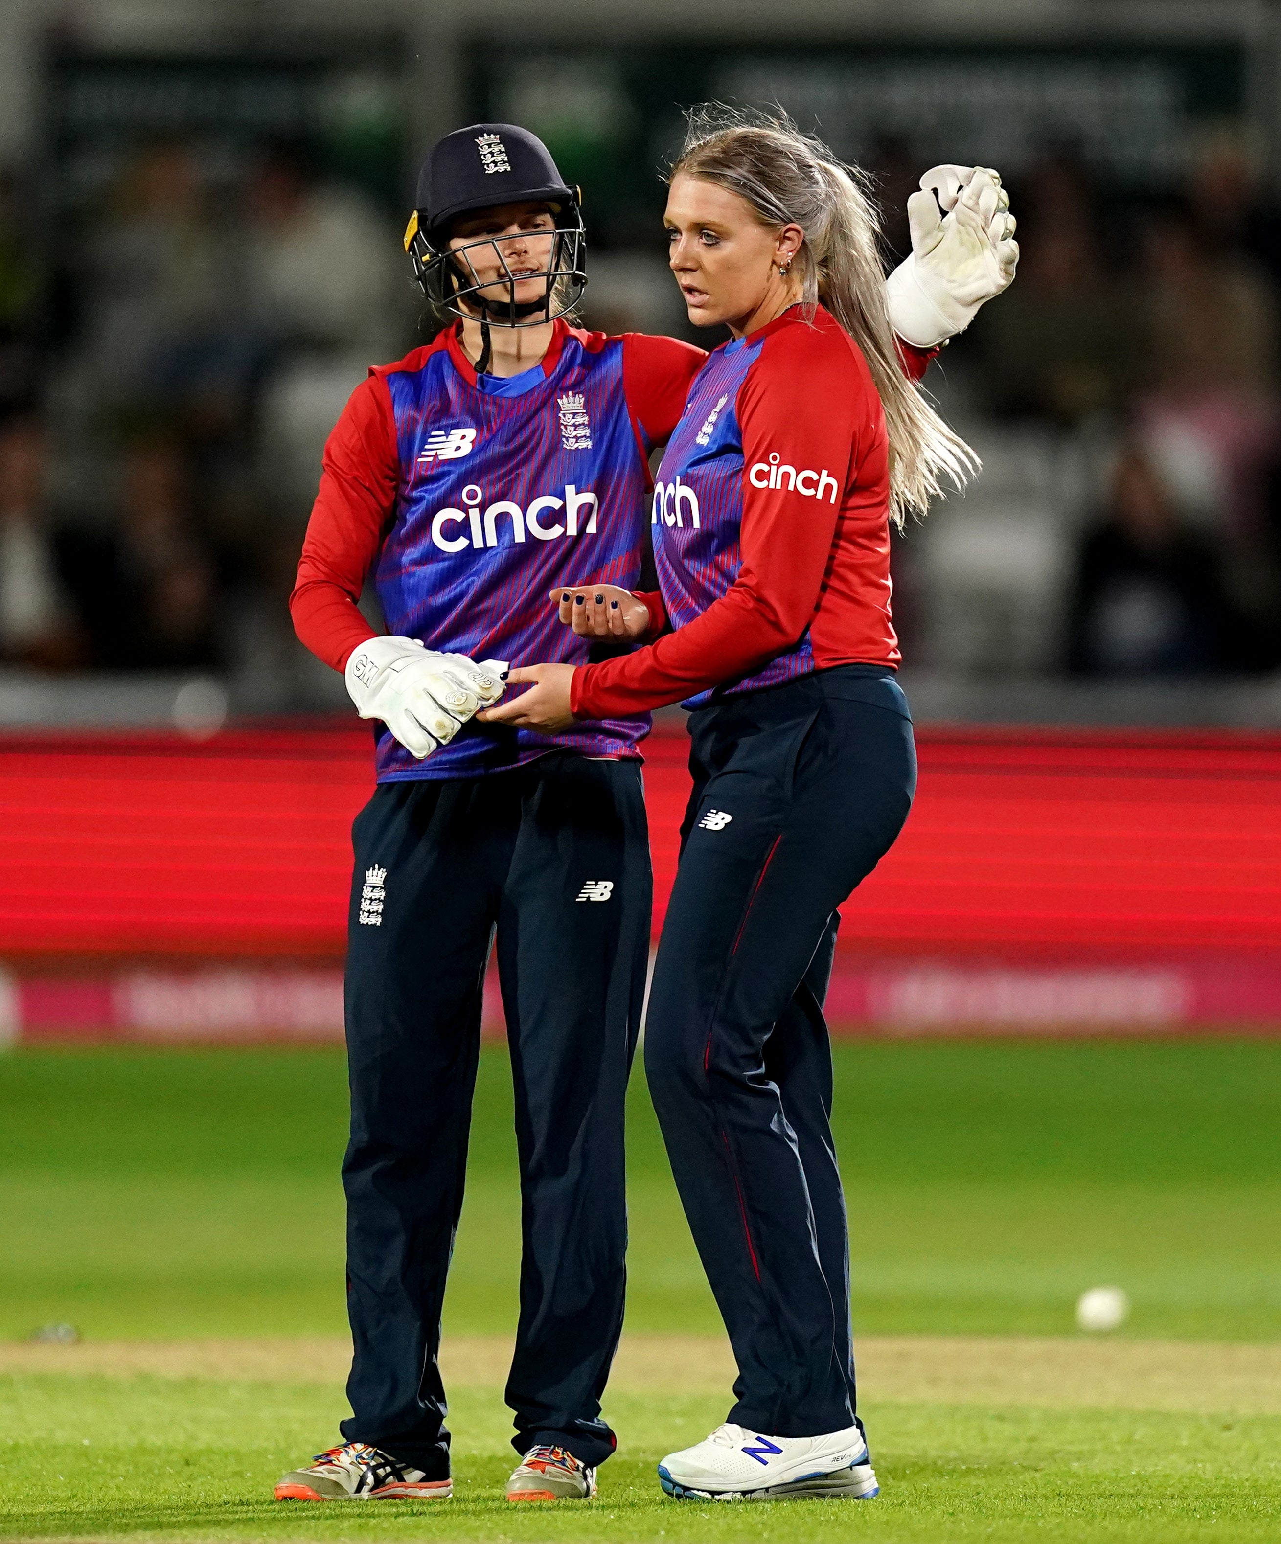
<instances>
[{"instance_id":1,"label":"dark blurred crowd in the stands behind the two players","mask_svg":"<svg viewBox=\"0 0 1281 1544\"><path fill-rule=\"evenodd\" d=\"M286 601L329 428L424 341L421 151L534 128L586 324L708 343L659 181L702 97L866 167L887 262L929 165L1011 190L1017 283L928 381L985 472L895 543L926 716L1281 720L1275 8L945 9L0 8L0 721L343 707Z\"/></svg>"}]
</instances>

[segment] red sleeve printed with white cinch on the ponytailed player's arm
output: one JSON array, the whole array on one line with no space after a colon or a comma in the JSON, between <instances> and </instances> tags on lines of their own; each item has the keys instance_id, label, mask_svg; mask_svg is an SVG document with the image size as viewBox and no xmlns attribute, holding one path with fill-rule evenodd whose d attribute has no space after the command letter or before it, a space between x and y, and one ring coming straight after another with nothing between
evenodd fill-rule
<instances>
[{"instance_id":1,"label":"red sleeve printed with white cinch on the ponytailed player's arm","mask_svg":"<svg viewBox=\"0 0 1281 1544\"><path fill-rule=\"evenodd\" d=\"M738 577L687 627L576 670L574 713L611 718L678 703L796 644L818 605L870 391L841 334L815 338L809 327L789 327L766 340L736 403L744 460ZM823 411L796 412L798 401L823 403ZM749 468L775 452L787 465L821 468L837 493L820 500L795 488L756 488Z\"/></svg>"}]
</instances>

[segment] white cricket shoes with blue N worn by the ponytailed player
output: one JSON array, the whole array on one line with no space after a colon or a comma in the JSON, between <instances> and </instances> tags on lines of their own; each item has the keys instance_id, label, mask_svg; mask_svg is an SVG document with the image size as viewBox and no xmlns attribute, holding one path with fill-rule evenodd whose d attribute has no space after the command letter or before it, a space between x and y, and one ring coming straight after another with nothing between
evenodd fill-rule
<instances>
[{"instance_id":1,"label":"white cricket shoes with blue N worn by the ponytailed player","mask_svg":"<svg viewBox=\"0 0 1281 1544\"><path fill-rule=\"evenodd\" d=\"M880 1490L858 1427L818 1437L762 1437L744 1427L716 1427L691 1448L668 1453L659 1464L659 1484L679 1501L870 1501Z\"/></svg>"}]
</instances>

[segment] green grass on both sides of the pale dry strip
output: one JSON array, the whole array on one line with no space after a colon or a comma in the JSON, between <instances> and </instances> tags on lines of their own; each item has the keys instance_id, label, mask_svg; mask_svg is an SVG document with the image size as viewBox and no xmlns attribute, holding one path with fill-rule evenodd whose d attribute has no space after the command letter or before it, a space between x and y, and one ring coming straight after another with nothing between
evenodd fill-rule
<instances>
[{"instance_id":1,"label":"green grass on both sides of the pale dry strip","mask_svg":"<svg viewBox=\"0 0 1281 1544\"><path fill-rule=\"evenodd\" d=\"M502 1048L477 1092L446 1334L514 1323L519 1209ZM864 1334L1071 1334L1125 1286L1131 1337L1281 1339L1281 1042L889 1042L837 1050ZM343 1331L341 1055L19 1050L0 1061L0 1340ZM631 1110L630 1332L716 1334L644 1090ZM728 1393L617 1391L586 1507L512 1508L497 1388L454 1391L457 1499L282 1507L338 1385L11 1373L0 1536L258 1539L1275 1539L1281 1416L895 1402L864 1414L870 1504L665 1502L653 1464ZM1278 1407L1281 1408L1281 1405Z\"/></svg>"}]
</instances>

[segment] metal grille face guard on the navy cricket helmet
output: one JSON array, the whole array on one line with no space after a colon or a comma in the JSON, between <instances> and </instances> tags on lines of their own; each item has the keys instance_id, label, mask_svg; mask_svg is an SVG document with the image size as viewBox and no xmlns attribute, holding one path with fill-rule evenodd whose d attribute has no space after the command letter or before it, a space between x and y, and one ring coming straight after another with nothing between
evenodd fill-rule
<instances>
[{"instance_id":1,"label":"metal grille face guard on the navy cricket helmet","mask_svg":"<svg viewBox=\"0 0 1281 1544\"><path fill-rule=\"evenodd\" d=\"M461 317L465 321L488 323L491 327L539 327L573 310L586 289L586 232L577 201L559 213L557 221L568 222L557 224L554 230L532 233L551 238L551 255L546 269L542 270L546 284L542 300L536 301L515 298L517 284L540 275L512 273L502 250L511 236L483 236L461 247L449 247L446 235L428 235L415 210L404 232L404 250L409 253L414 276L423 293L438 312ZM475 272L472 255L482 247L488 247L499 259L499 273L494 278L482 279ZM506 300L495 298L494 292L503 287Z\"/></svg>"}]
</instances>

